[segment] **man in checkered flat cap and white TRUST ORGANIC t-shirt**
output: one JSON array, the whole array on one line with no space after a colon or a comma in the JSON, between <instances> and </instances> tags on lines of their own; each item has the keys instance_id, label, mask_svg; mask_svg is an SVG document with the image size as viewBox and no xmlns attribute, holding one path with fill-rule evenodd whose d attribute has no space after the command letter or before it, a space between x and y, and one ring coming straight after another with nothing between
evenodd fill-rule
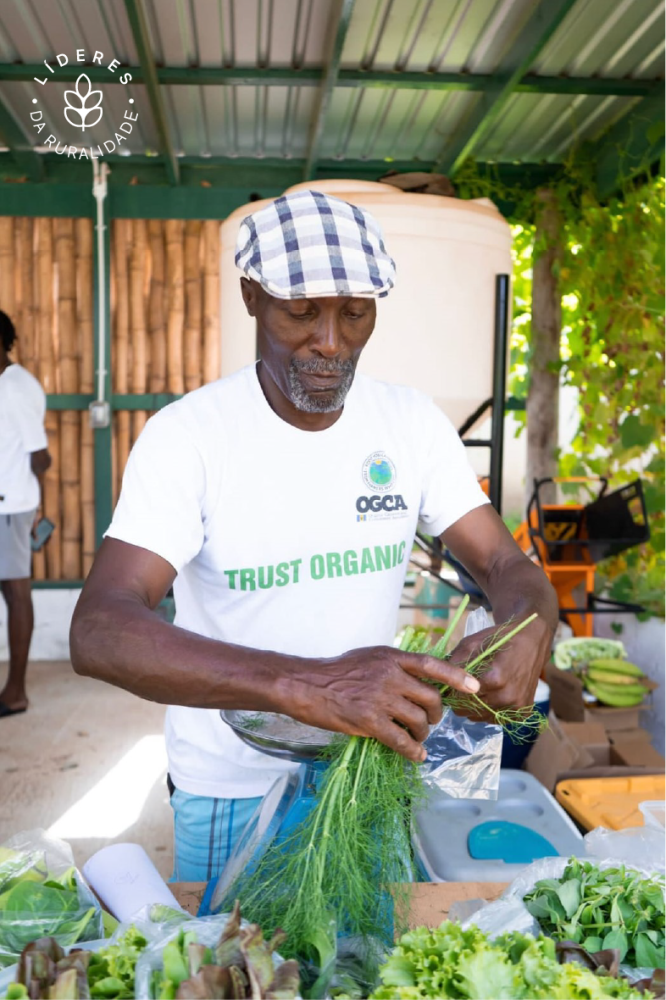
<instances>
[{"instance_id":1,"label":"man in checkered flat cap and white TRUST ORGANIC t-shirt","mask_svg":"<svg viewBox=\"0 0 666 1000\"><path fill-rule=\"evenodd\" d=\"M478 689L459 666L390 646L417 520L498 621L539 614L484 679L492 704L532 701L557 620L444 415L354 374L394 282L372 217L294 193L244 221L236 262L261 360L149 421L71 635L78 673L171 706L179 879L221 870L293 767L245 746L219 709L283 712L422 760L441 718L425 681ZM154 614L172 583L175 627Z\"/></svg>"}]
</instances>

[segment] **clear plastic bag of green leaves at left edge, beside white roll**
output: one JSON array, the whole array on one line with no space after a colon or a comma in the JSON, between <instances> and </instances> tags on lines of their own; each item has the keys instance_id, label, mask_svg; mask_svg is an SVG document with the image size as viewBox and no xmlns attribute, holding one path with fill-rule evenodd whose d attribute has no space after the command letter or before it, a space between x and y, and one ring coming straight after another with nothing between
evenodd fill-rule
<instances>
[{"instance_id":1,"label":"clear plastic bag of green leaves at left edge, beside white roll","mask_svg":"<svg viewBox=\"0 0 666 1000\"><path fill-rule=\"evenodd\" d=\"M67 948L103 938L104 928L69 846L35 830L0 847L0 968L47 936Z\"/></svg>"}]
</instances>

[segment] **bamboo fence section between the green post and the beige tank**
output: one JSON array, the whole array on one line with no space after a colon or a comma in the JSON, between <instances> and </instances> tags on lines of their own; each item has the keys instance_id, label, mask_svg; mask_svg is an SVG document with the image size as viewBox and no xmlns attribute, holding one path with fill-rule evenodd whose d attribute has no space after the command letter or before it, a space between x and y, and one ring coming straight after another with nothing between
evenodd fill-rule
<instances>
[{"instance_id":1,"label":"bamboo fence section between the green post and the beige tank","mask_svg":"<svg viewBox=\"0 0 666 1000\"><path fill-rule=\"evenodd\" d=\"M182 394L219 378L219 222L116 219L111 243L114 394ZM114 414L114 503L150 415Z\"/></svg>"}]
</instances>

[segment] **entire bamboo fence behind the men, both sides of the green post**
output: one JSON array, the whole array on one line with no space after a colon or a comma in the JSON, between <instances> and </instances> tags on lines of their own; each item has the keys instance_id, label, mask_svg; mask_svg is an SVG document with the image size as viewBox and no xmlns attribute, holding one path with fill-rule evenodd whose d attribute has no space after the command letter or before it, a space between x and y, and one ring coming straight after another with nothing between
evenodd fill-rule
<instances>
[{"instance_id":1,"label":"entire bamboo fence behind the men, both sides of the green post","mask_svg":"<svg viewBox=\"0 0 666 1000\"><path fill-rule=\"evenodd\" d=\"M111 232L115 395L182 393L220 375L219 222L117 219ZM93 393L90 219L0 217L0 309L13 359L46 393ZM113 417L113 499L149 411ZM95 551L94 431L88 413L48 410L52 465L43 510L55 524L35 579L85 577Z\"/></svg>"}]
</instances>

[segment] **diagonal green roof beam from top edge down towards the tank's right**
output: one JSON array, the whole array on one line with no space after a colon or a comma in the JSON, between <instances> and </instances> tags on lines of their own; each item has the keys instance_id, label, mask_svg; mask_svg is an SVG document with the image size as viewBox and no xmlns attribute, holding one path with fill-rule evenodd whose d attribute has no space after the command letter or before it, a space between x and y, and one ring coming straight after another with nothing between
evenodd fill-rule
<instances>
[{"instance_id":1,"label":"diagonal green roof beam from top edge down towards the tank's right","mask_svg":"<svg viewBox=\"0 0 666 1000\"><path fill-rule=\"evenodd\" d=\"M487 90L437 160L436 170L454 176L495 122L516 85L567 16L576 0L537 0L534 13L495 70Z\"/></svg>"}]
</instances>

